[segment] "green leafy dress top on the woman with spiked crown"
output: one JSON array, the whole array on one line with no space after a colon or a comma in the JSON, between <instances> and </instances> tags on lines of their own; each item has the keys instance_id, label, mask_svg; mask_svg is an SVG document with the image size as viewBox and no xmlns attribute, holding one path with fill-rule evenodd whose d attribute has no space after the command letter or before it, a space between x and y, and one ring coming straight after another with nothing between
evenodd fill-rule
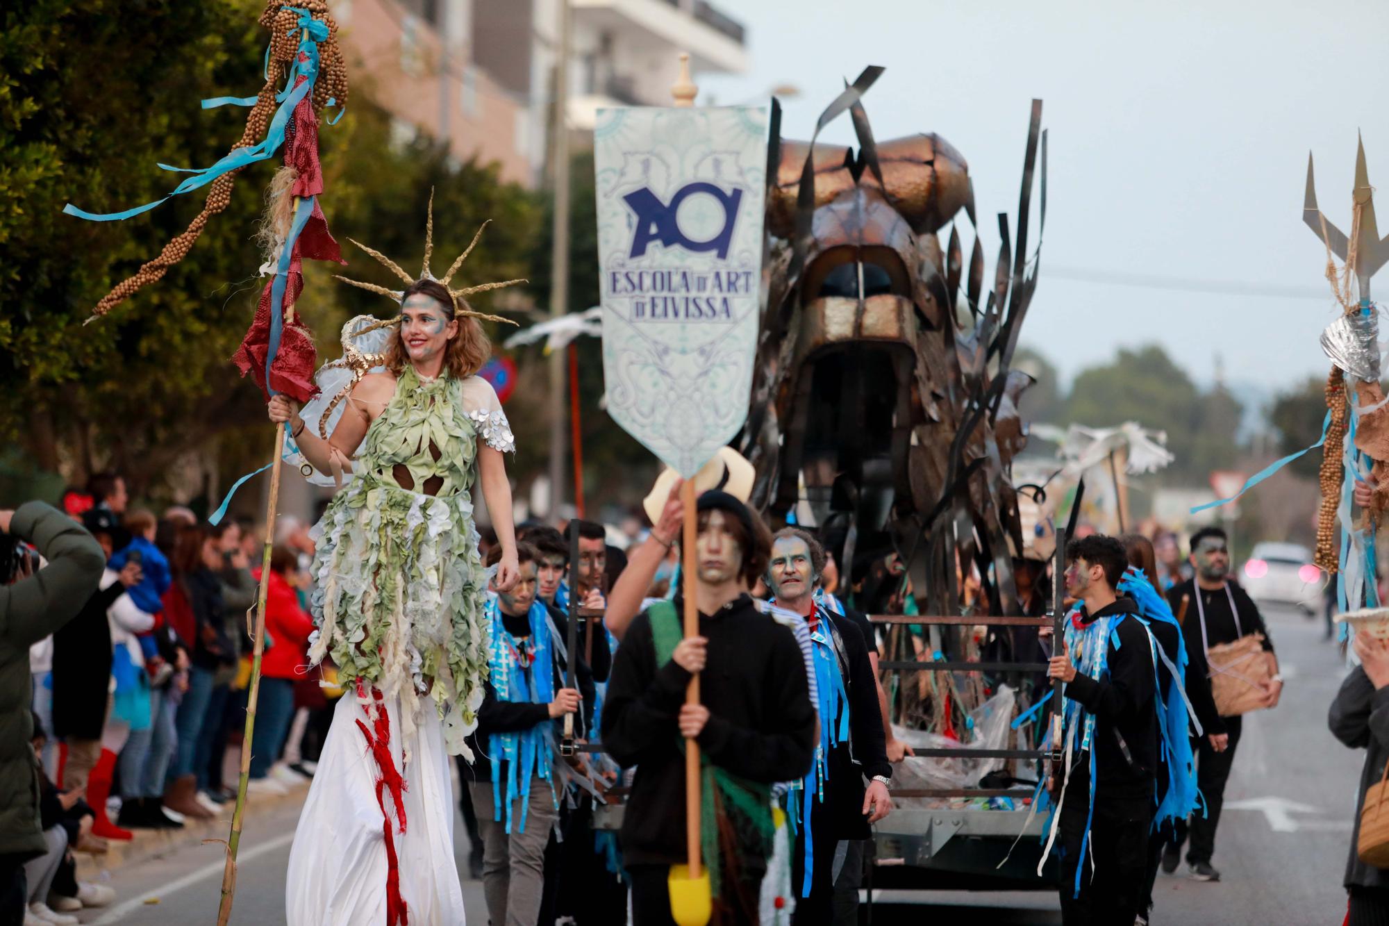
<instances>
[{"instance_id":1,"label":"green leafy dress top on the woman with spiked crown","mask_svg":"<svg viewBox=\"0 0 1389 926\"><path fill-rule=\"evenodd\" d=\"M488 674L488 570L471 495L479 439L515 449L486 380L400 373L354 477L314 527L308 648L310 665L331 658L344 687L360 680L399 695L407 744L421 699L432 698L449 752L469 759Z\"/></svg>"}]
</instances>

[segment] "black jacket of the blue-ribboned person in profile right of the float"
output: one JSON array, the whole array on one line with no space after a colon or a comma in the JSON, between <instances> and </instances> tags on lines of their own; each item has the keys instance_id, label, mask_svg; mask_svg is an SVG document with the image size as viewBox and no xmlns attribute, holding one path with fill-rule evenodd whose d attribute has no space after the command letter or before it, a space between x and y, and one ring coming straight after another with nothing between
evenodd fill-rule
<instances>
[{"instance_id":1,"label":"black jacket of the blue-ribboned person in profile right of the float","mask_svg":"<svg viewBox=\"0 0 1389 926\"><path fill-rule=\"evenodd\" d=\"M1082 612L1089 624L1100 617L1136 615L1131 598L1120 598L1093 615ZM1157 708L1153 695L1153 653L1143 624L1126 617L1115 630L1120 645L1108 647L1108 679L1096 680L1076 673L1065 685L1065 697L1095 715L1095 776L1099 799L1150 801L1157 776ZM1089 755L1081 754L1071 767L1071 794L1089 793ZM1079 790L1076 790L1079 788Z\"/></svg>"}]
</instances>

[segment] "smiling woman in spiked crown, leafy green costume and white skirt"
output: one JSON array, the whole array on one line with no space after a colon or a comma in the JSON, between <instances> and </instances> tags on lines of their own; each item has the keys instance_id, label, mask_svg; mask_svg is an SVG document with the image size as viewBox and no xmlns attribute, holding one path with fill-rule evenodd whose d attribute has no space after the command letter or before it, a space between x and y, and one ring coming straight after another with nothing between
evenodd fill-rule
<instances>
[{"instance_id":1,"label":"smiling woman in spiked crown, leafy green costume and white skirt","mask_svg":"<svg viewBox=\"0 0 1389 926\"><path fill-rule=\"evenodd\" d=\"M431 211L431 236L432 224ZM464 298L508 284L449 289L468 252L436 279L431 246L419 279L363 247L406 288L346 282L390 296L400 317L349 323L346 356L319 370L324 395L303 417L283 396L269 403L306 476L350 480L314 528L308 662L331 658L349 694L294 836L290 926L464 922L449 756L468 755L488 672L475 478L503 549L497 587L518 574L503 459L514 441L476 375L490 349L476 318L492 316Z\"/></svg>"}]
</instances>

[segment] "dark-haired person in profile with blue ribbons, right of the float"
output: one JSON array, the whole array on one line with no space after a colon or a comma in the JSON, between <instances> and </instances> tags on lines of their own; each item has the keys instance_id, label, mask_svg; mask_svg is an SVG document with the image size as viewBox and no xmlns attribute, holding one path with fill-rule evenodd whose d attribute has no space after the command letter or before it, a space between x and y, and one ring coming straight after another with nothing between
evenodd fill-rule
<instances>
[{"instance_id":1,"label":"dark-haired person in profile with blue ribbons, right of the float","mask_svg":"<svg viewBox=\"0 0 1389 926\"><path fill-rule=\"evenodd\" d=\"M1057 844L1067 926L1132 926L1142 902L1158 762L1156 644L1120 596L1128 559L1113 537L1067 545L1079 599L1047 674L1064 683L1063 780L1042 861ZM1133 617L1133 620L1129 620Z\"/></svg>"}]
</instances>

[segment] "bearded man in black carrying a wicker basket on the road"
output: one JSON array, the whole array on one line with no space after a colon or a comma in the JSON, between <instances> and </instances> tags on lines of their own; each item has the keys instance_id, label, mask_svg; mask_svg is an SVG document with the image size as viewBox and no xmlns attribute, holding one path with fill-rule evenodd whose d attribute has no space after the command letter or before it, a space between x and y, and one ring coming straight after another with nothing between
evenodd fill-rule
<instances>
[{"instance_id":1,"label":"bearded man in black carrying a wicker basket on the road","mask_svg":"<svg viewBox=\"0 0 1389 926\"><path fill-rule=\"evenodd\" d=\"M1179 613L1182 598L1188 599L1186 630L1182 634L1190 666L1188 677L1207 679L1210 667L1206 651L1211 647L1260 633L1264 635L1264 658L1268 659L1271 674L1264 706L1278 706L1283 680L1278 674L1274 642L1268 637L1268 627L1258 613L1258 606L1238 583L1229 580L1229 544L1225 531L1218 527L1203 527L1192 535L1192 566L1196 569L1196 577L1174 585L1167 594L1172 613ZM1206 799L1206 815L1193 813L1189 826L1181 823L1176 826L1176 841L1163 852L1163 870L1168 873L1176 870L1182 843L1190 830L1192 844L1186 850L1188 873L1199 882L1220 880L1220 872L1211 868L1215 827L1220 823L1225 783L1229 780L1242 730L1243 717L1225 717L1224 740L1208 737L1192 744L1196 748L1196 783Z\"/></svg>"}]
</instances>

